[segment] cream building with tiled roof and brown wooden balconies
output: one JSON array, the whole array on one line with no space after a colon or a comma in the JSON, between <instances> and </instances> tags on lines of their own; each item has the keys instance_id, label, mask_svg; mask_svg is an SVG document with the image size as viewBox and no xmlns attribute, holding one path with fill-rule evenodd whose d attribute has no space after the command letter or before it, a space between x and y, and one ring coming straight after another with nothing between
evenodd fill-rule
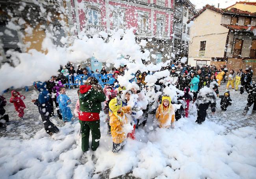
<instances>
[{"instance_id":1,"label":"cream building with tiled roof and brown wooden balconies","mask_svg":"<svg viewBox=\"0 0 256 179\"><path fill-rule=\"evenodd\" d=\"M228 65L235 70L252 65L256 69L256 13L206 5L191 20L190 65Z\"/></svg>"}]
</instances>

